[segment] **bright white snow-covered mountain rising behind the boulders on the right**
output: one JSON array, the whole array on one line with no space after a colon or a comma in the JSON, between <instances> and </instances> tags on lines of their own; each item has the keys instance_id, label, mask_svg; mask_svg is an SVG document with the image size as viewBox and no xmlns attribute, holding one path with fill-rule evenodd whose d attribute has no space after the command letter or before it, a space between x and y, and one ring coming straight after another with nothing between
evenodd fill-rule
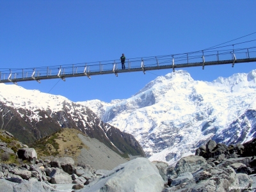
<instances>
[{"instance_id":1,"label":"bright white snow-covered mountain rising behind the boulders on the right","mask_svg":"<svg viewBox=\"0 0 256 192\"><path fill-rule=\"evenodd\" d=\"M132 134L152 161L174 164L211 138L230 145L256 136L256 70L212 82L177 70L129 99L78 103Z\"/></svg>"}]
</instances>

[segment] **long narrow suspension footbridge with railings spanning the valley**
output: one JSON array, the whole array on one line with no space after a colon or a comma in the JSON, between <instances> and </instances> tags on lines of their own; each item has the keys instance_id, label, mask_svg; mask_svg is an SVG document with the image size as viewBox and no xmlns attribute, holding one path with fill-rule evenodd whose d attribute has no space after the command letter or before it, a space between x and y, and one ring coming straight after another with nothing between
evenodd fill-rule
<instances>
[{"instance_id":1,"label":"long narrow suspension footbridge with railings spanning the valley","mask_svg":"<svg viewBox=\"0 0 256 192\"><path fill-rule=\"evenodd\" d=\"M233 46L234 47L234 46ZM125 61L122 69L120 60L99 61L92 63L77 63L70 65L56 65L51 67L16 68L0 71L0 83L14 83L21 81L38 81L44 79L58 79L63 81L67 77L81 77L114 74L125 72L143 72L149 70L172 69L186 67L204 67L209 65L249 63L256 61L256 47L243 49L226 49L214 51L195 51L183 54L151 56L146 58L132 58Z\"/></svg>"}]
</instances>

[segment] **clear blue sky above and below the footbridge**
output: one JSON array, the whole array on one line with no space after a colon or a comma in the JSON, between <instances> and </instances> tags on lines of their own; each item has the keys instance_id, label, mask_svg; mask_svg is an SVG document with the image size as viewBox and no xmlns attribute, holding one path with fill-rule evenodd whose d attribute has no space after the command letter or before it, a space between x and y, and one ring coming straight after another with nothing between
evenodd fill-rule
<instances>
[{"instance_id":1,"label":"clear blue sky above and below the footbridge","mask_svg":"<svg viewBox=\"0 0 256 192\"><path fill-rule=\"evenodd\" d=\"M256 32L256 1L0 0L0 70L200 51ZM232 43L255 40L256 33ZM255 46L252 42L250 47ZM246 45L244 45L246 46ZM250 72L256 63L184 68L195 80ZM20 82L72 101L127 99L172 70Z\"/></svg>"}]
</instances>

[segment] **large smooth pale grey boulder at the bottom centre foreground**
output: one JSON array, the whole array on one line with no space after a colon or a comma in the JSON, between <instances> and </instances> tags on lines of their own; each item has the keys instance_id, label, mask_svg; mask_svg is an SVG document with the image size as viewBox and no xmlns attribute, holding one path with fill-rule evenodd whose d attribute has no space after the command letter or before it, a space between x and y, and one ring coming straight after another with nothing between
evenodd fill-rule
<instances>
[{"instance_id":1,"label":"large smooth pale grey boulder at the bottom centre foreground","mask_svg":"<svg viewBox=\"0 0 256 192\"><path fill-rule=\"evenodd\" d=\"M108 175L92 182L81 191L86 192L157 192L164 188L164 180L154 164L146 158L140 157L124 164L120 164Z\"/></svg>"}]
</instances>

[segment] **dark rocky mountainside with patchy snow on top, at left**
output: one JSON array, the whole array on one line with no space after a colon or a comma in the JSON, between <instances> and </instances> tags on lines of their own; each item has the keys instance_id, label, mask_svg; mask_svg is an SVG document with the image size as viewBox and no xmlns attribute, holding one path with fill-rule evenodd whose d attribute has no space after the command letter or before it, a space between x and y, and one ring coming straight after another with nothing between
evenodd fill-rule
<instances>
[{"instance_id":1,"label":"dark rocky mountainside with patchy snow on top, at left","mask_svg":"<svg viewBox=\"0 0 256 192\"><path fill-rule=\"evenodd\" d=\"M145 156L131 134L100 120L89 108L65 97L0 84L0 129L31 144L63 128L96 138L123 157Z\"/></svg>"}]
</instances>

